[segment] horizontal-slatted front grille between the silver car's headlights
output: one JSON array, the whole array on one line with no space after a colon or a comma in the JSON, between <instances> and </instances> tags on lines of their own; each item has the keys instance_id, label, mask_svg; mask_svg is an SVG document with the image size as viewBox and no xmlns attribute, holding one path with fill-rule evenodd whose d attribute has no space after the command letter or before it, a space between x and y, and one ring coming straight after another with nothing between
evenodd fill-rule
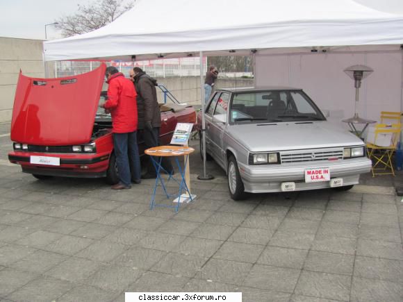
<instances>
[{"instance_id":1,"label":"horizontal-slatted front grille between the silver car's headlights","mask_svg":"<svg viewBox=\"0 0 403 302\"><path fill-rule=\"evenodd\" d=\"M343 149L311 149L280 152L281 162L315 162L321 160L343 159Z\"/></svg>"}]
</instances>

